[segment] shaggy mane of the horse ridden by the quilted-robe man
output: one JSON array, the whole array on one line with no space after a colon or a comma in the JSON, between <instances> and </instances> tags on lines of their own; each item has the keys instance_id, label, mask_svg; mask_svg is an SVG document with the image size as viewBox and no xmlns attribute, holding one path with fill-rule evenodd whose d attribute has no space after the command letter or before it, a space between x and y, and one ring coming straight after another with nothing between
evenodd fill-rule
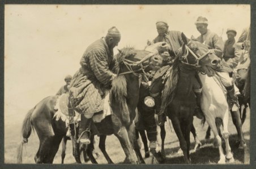
<instances>
[{"instance_id":1,"label":"shaggy mane of the horse ridden by the quilted-robe man","mask_svg":"<svg viewBox=\"0 0 256 169\"><path fill-rule=\"evenodd\" d=\"M114 77L112 81L112 87L109 92L109 101L110 106L113 108L118 107L117 111L113 111L113 113L117 114L118 117L121 115L121 119L126 124L130 123L130 114L129 108L126 103L127 96L127 83L125 75L118 75L120 72L120 66L123 63L123 59L130 56L131 51L133 51L133 47L125 47L123 48L119 54L115 55L116 63L114 65L113 72L117 74L117 77ZM115 106L118 105L118 106Z\"/></svg>"}]
</instances>

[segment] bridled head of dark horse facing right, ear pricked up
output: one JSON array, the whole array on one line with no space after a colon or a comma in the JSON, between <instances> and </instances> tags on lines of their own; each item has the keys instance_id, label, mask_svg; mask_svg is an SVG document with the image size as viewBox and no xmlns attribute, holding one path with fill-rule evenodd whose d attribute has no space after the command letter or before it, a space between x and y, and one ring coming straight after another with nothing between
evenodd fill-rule
<instances>
[{"instance_id":1,"label":"bridled head of dark horse facing right, ear pricked up","mask_svg":"<svg viewBox=\"0 0 256 169\"><path fill-rule=\"evenodd\" d=\"M220 58L217 57L207 45L200 43L193 37L188 41L185 34L181 34L184 44L181 47L181 61L197 68L208 66L212 69L219 68Z\"/></svg>"}]
</instances>

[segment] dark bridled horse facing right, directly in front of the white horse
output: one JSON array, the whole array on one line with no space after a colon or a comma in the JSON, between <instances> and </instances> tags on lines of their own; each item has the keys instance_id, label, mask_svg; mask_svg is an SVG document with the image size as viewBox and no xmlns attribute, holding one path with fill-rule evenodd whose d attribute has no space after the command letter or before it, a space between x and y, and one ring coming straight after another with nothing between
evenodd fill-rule
<instances>
[{"instance_id":1,"label":"dark bridled horse facing right, directly in front of the white horse","mask_svg":"<svg viewBox=\"0 0 256 169\"><path fill-rule=\"evenodd\" d=\"M206 45L198 41L187 42L184 33L181 36L184 44L174 59L165 83L160 113L165 113L172 121L185 163L191 163L190 131L196 106L193 91L193 85L197 81L196 70L198 66L215 67L220 59Z\"/></svg>"}]
</instances>

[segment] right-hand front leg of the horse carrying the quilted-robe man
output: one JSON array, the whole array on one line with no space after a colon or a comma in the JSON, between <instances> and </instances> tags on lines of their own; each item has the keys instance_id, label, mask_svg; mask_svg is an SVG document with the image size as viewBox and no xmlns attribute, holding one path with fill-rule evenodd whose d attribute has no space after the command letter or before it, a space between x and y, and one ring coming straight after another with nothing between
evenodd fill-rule
<instances>
[{"instance_id":1,"label":"right-hand front leg of the horse carrying the quilted-robe man","mask_svg":"<svg viewBox=\"0 0 256 169\"><path fill-rule=\"evenodd\" d=\"M136 140L136 136L135 136L135 125L134 125L134 123L130 124L127 131L128 131L129 139L131 141L131 145L133 146L133 148L135 150L135 153L138 157L139 163L144 164L145 161L142 157L142 154L140 153L140 147L139 147L138 141Z\"/></svg>"}]
</instances>

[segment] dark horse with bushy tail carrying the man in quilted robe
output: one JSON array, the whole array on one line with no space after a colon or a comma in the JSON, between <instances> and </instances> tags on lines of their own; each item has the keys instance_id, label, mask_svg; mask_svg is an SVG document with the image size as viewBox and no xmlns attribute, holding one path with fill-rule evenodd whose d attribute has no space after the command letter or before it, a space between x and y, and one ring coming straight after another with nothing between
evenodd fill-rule
<instances>
[{"instance_id":1,"label":"dark horse with bushy tail carrying the man in quilted robe","mask_svg":"<svg viewBox=\"0 0 256 169\"><path fill-rule=\"evenodd\" d=\"M157 48L166 46L167 43L156 45ZM138 161L144 163L139 146L135 141L133 119L138 103L139 74L144 72L144 65L149 64L148 59L152 56L151 52L135 50L131 47L126 47L119 51L115 66L115 71L118 75L113 79L112 89L110 90L113 114L107 116L100 123L95 123L97 130L101 134L114 134L117 136L130 163L138 163ZM32 128L36 130L40 140L39 150L34 158L35 162L53 163L59 144L67 132L66 123L54 118L54 114L57 112L55 109L57 100L58 96L45 97L33 109L29 110L25 116L22 126L23 139L18 148L18 163L22 163L23 144L28 142ZM80 147L75 139L72 139L72 143L76 162L81 163ZM134 148L138 158L132 148Z\"/></svg>"}]
</instances>

